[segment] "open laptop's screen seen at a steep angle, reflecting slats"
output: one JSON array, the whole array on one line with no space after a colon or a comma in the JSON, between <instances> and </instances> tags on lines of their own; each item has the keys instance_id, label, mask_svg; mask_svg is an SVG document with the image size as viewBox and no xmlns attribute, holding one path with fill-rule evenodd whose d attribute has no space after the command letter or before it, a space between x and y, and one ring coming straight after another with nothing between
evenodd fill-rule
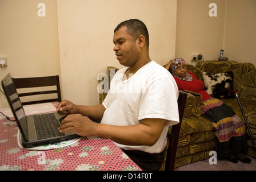
<instances>
[{"instance_id":1,"label":"open laptop's screen seen at a steep angle, reflecting slats","mask_svg":"<svg viewBox=\"0 0 256 182\"><path fill-rule=\"evenodd\" d=\"M5 91L5 96L11 111L13 112L14 118L19 126L19 130L21 130L23 138L27 139L27 117L21 104L21 100L19 100L19 96L10 73L8 73L5 78L3 78L1 84L3 90Z\"/></svg>"}]
</instances>

